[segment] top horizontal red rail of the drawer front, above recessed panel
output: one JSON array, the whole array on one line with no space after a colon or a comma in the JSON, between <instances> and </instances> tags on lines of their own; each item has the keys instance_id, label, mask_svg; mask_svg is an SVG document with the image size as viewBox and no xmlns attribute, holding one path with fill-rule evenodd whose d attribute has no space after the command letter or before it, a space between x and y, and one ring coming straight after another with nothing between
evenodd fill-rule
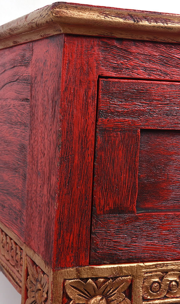
<instances>
[{"instance_id":1,"label":"top horizontal red rail of the drawer front, above recessed panel","mask_svg":"<svg viewBox=\"0 0 180 304\"><path fill-rule=\"evenodd\" d=\"M98 126L179 129L180 83L100 79Z\"/></svg>"}]
</instances>

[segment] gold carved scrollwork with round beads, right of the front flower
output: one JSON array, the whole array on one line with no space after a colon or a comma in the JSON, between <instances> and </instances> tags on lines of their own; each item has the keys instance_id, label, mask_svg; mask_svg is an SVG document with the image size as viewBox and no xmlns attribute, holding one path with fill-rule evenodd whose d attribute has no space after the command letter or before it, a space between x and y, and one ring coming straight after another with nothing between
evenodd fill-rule
<instances>
[{"instance_id":1,"label":"gold carved scrollwork with round beads, right of the front flower","mask_svg":"<svg viewBox=\"0 0 180 304\"><path fill-rule=\"evenodd\" d=\"M143 282L143 299L169 299L180 297L180 272L146 273ZM180 301L180 299L179 299Z\"/></svg>"}]
</instances>

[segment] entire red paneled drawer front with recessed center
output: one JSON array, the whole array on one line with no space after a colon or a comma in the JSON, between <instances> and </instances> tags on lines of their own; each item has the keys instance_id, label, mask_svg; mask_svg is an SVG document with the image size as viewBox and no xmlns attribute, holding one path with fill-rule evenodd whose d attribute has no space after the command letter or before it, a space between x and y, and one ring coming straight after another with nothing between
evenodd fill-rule
<instances>
[{"instance_id":1,"label":"entire red paneled drawer front with recessed center","mask_svg":"<svg viewBox=\"0 0 180 304\"><path fill-rule=\"evenodd\" d=\"M91 264L180 258L179 92L99 80Z\"/></svg>"}]
</instances>

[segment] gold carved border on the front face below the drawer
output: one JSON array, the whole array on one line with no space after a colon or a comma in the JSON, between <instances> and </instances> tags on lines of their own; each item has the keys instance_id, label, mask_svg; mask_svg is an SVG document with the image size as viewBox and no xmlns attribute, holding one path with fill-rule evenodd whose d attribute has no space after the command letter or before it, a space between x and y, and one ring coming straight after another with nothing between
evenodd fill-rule
<instances>
[{"instance_id":1,"label":"gold carved border on the front face below the drawer","mask_svg":"<svg viewBox=\"0 0 180 304\"><path fill-rule=\"evenodd\" d=\"M180 303L180 261L68 268L53 282L58 304Z\"/></svg>"}]
</instances>

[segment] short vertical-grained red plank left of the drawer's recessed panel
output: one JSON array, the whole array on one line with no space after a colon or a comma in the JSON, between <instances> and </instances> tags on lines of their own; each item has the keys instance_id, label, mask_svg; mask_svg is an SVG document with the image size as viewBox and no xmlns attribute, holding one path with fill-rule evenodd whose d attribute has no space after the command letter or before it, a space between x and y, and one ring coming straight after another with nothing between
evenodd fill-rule
<instances>
[{"instance_id":1,"label":"short vertical-grained red plank left of the drawer's recessed panel","mask_svg":"<svg viewBox=\"0 0 180 304\"><path fill-rule=\"evenodd\" d=\"M96 130L93 214L135 213L140 130Z\"/></svg>"}]
</instances>

